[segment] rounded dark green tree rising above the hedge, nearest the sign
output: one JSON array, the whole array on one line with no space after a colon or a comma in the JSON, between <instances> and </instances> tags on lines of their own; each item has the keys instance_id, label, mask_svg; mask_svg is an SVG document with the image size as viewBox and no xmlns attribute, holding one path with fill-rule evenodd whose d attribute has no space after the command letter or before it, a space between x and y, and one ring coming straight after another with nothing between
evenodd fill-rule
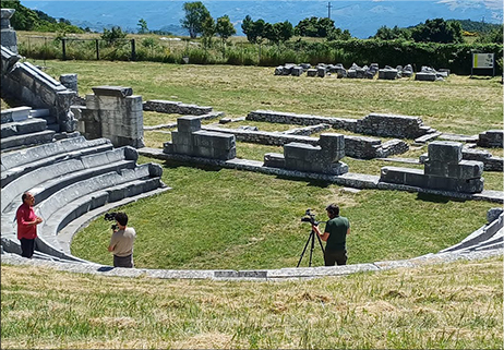
<instances>
[{"instance_id":1,"label":"rounded dark green tree rising above the hedge, nearest the sign","mask_svg":"<svg viewBox=\"0 0 504 350\"><path fill-rule=\"evenodd\" d=\"M443 19L427 20L411 29L415 41L463 43L461 25L458 21L446 22Z\"/></svg>"}]
</instances>

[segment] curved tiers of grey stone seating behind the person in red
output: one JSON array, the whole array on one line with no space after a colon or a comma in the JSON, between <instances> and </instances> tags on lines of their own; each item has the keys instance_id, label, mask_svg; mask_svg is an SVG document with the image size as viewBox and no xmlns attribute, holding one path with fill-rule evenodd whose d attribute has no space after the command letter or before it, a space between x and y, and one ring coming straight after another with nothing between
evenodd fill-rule
<instances>
[{"instance_id":1,"label":"curved tiers of grey stone seating behind the person in red","mask_svg":"<svg viewBox=\"0 0 504 350\"><path fill-rule=\"evenodd\" d=\"M21 252L15 212L26 191L34 194L35 212L44 218L36 257L81 261L58 238L69 224L89 212L100 215L115 204L169 190L161 182L160 166L136 164L135 148L113 148L109 140L89 141L79 133L59 134L47 129L47 119L31 117L31 111L29 107L2 111L0 208L5 252Z\"/></svg>"}]
</instances>

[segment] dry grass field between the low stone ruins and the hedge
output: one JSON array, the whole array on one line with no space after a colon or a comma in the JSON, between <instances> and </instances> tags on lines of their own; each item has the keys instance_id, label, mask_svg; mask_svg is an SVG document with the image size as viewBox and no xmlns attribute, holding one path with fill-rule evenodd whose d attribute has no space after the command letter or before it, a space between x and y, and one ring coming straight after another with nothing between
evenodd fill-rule
<instances>
[{"instance_id":1,"label":"dry grass field between the low stone ruins and the hedge","mask_svg":"<svg viewBox=\"0 0 504 350\"><path fill-rule=\"evenodd\" d=\"M260 67L103 61L47 61L46 67L55 77L77 73L81 95L93 86L131 86L144 100L212 106L228 117L256 109L347 118L383 112L417 116L425 125L467 135L502 128L500 77L451 75L432 83L275 76L274 69Z\"/></svg>"}]
</instances>

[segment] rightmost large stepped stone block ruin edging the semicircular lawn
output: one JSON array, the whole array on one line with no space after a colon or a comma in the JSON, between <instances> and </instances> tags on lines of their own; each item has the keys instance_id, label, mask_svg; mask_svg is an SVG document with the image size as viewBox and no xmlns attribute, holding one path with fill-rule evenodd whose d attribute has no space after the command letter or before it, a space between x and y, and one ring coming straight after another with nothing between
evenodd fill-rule
<instances>
[{"instance_id":1,"label":"rightmost large stepped stone block ruin edging the semicircular lawn","mask_svg":"<svg viewBox=\"0 0 504 350\"><path fill-rule=\"evenodd\" d=\"M483 164L463 160L463 144L434 141L428 146L424 169L384 167L380 181L441 191L479 193L483 191Z\"/></svg>"}]
</instances>

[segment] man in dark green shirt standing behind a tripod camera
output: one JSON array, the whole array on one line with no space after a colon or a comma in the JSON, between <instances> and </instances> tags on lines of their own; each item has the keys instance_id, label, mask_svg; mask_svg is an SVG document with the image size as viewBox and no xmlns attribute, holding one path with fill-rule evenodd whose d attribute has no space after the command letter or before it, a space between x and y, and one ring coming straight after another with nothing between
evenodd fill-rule
<instances>
[{"instance_id":1,"label":"man in dark green shirt standing behind a tripod camera","mask_svg":"<svg viewBox=\"0 0 504 350\"><path fill-rule=\"evenodd\" d=\"M350 221L339 216L339 206L332 203L326 208L329 220L325 224L324 233L319 226L312 224L312 229L326 242L324 252L325 266L347 264L347 234L350 233Z\"/></svg>"}]
</instances>

